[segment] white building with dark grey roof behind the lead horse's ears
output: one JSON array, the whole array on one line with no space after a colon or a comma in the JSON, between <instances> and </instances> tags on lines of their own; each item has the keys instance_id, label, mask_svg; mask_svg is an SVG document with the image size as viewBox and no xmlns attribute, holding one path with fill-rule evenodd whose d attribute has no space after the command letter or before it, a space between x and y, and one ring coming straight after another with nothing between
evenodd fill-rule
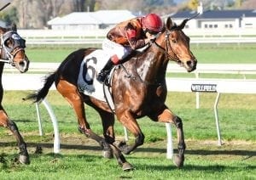
<instances>
[{"instance_id":1,"label":"white building with dark grey roof behind the lead horse's ears","mask_svg":"<svg viewBox=\"0 0 256 180\"><path fill-rule=\"evenodd\" d=\"M256 10L207 10L203 11L202 6L196 11L181 11L170 14L172 20L177 24L184 19L200 13L195 19L189 20L185 28L204 30L234 30L234 29L256 29ZM256 32L255 32L256 33Z\"/></svg>"}]
</instances>

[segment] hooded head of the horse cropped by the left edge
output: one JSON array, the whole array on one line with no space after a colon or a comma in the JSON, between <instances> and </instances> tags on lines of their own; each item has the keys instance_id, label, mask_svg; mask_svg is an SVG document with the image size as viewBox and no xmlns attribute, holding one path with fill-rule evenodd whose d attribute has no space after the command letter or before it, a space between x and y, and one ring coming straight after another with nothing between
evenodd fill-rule
<instances>
[{"instance_id":1,"label":"hooded head of the horse cropped by the left edge","mask_svg":"<svg viewBox=\"0 0 256 180\"><path fill-rule=\"evenodd\" d=\"M25 40L17 33L16 25L9 28L0 27L1 62L9 63L21 73L28 70L29 60L25 54Z\"/></svg>"}]
</instances>

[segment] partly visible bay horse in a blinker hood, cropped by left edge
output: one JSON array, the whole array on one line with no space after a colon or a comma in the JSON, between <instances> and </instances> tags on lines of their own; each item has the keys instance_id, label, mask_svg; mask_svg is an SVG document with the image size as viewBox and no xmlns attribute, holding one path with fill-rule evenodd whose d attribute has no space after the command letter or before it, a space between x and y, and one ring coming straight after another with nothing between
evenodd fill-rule
<instances>
[{"instance_id":1,"label":"partly visible bay horse in a blinker hood, cropped by left edge","mask_svg":"<svg viewBox=\"0 0 256 180\"><path fill-rule=\"evenodd\" d=\"M29 164L29 155L26 150L26 143L20 135L18 127L14 121L9 119L6 111L3 109L3 66L8 63L20 70L20 73L26 72L29 66L29 60L26 57L25 40L17 33L16 25L8 28L0 27L0 126L8 128L15 136L20 149L19 160L22 164ZM13 82L15 83L15 82Z\"/></svg>"}]
</instances>

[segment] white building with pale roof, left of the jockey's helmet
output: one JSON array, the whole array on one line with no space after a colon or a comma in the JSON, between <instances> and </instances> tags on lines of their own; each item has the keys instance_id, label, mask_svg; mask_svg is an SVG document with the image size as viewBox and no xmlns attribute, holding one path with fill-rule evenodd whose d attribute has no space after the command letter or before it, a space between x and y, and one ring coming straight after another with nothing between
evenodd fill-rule
<instances>
[{"instance_id":1,"label":"white building with pale roof, left of the jockey's helmet","mask_svg":"<svg viewBox=\"0 0 256 180\"><path fill-rule=\"evenodd\" d=\"M96 12L74 12L49 20L52 30L99 30L111 28L121 21L136 17L128 10L100 10Z\"/></svg>"}]
</instances>

